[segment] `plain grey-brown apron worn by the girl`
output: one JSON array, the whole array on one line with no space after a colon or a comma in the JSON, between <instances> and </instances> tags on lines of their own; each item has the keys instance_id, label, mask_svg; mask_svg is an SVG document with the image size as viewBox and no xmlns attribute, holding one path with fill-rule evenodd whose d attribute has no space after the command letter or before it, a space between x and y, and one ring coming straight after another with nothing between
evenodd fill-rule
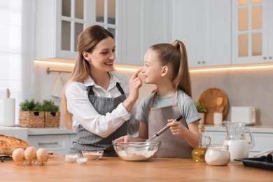
<instances>
[{"instance_id":1,"label":"plain grey-brown apron worn by the girl","mask_svg":"<svg viewBox=\"0 0 273 182\"><path fill-rule=\"evenodd\" d=\"M160 131L168 123L168 119L176 119L181 116L177 106L177 92L174 94L174 102L171 106L152 109L155 93L148 106L148 137L153 137L155 133ZM181 123L188 128L185 118L183 117ZM183 137L176 137L172 135L171 130L167 130L159 137L154 139L161 141L161 146L158 148L156 158L191 158L193 148L188 144L188 141Z\"/></svg>"}]
</instances>

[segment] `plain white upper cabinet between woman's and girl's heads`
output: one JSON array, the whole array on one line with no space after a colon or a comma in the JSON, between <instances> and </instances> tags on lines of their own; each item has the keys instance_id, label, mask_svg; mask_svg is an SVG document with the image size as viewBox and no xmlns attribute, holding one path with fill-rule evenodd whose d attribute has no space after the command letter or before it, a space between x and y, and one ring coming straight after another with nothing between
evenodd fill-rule
<instances>
[{"instance_id":1,"label":"plain white upper cabinet between woman's and girl's heads","mask_svg":"<svg viewBox=\"0 0 273 182\"><path fill-rule=\"evenodd\" d=\"M171 1L172 2L172 1ZM146 50L155 43L171 43L171 2L121 0L121 57L117 63L143 65Z\"/></svg>"}]
</instances>

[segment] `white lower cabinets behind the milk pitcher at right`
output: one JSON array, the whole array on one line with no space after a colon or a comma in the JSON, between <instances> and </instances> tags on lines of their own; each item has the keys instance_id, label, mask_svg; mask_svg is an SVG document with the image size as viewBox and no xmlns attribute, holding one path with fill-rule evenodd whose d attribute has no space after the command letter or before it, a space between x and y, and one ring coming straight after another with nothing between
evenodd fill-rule
<instances>
[{"instance_id":1,"label":"white lower cabinets behind the milk pitcher at right","mask_svg":"<svg viewBox=\"0 0 273 182\"><path fill-rule=\"evenodd\" d=\"M249 151L249 157L256 153L267 151L272 148L273 150L273 129L262 127L248 127L253 133L255 147ZM206 126L206 135L211 137L211 144L223 144L227 135L225 127L222 126ZM248 133L246 139L250 141Z\"/></svg>"}]
</instances>

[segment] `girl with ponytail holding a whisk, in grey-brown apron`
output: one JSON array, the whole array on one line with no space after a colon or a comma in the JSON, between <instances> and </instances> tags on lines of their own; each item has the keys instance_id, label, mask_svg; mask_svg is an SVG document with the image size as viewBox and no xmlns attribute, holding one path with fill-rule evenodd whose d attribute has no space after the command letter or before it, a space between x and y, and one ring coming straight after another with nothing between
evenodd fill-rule
<instances>
[{"instance_id":1,"label":"girl with ponytail holding a whisk, in grey-brown apron","mask_svg":"<svg viewBox=\"0 0 273 182\"><path fill-rule=\"evenodd\" d=\"M157 90L141 101L137 113L139 138L149 139L168 125L170 130L154 139L161 141L156 157L191 158L198 143L200 116L191 99L185 45L181 41L152 45L144 56L142 73L145 83L155 84ZM183 116L181 122L172 123L179 116ZM131 139L125 136L116 141Z\"/></svg>"}]
</instances>

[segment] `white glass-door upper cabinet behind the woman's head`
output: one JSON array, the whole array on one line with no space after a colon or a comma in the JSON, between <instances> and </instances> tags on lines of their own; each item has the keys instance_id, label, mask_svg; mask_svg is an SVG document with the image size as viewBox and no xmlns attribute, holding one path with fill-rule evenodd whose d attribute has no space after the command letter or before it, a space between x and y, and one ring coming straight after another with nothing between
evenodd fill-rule
<instances>
[{"instance_id":1,"label":"white glass-door upper cabinet behind the woman's head","mask_svg":"<svg viewBox=\"0 0 273 182\"><path fill-rule=\"evenodd\" d=\"M94 24L117 37L115 0L37 0L35 59L75 60L78 35Z\"/></svg>"}]
</instances>

